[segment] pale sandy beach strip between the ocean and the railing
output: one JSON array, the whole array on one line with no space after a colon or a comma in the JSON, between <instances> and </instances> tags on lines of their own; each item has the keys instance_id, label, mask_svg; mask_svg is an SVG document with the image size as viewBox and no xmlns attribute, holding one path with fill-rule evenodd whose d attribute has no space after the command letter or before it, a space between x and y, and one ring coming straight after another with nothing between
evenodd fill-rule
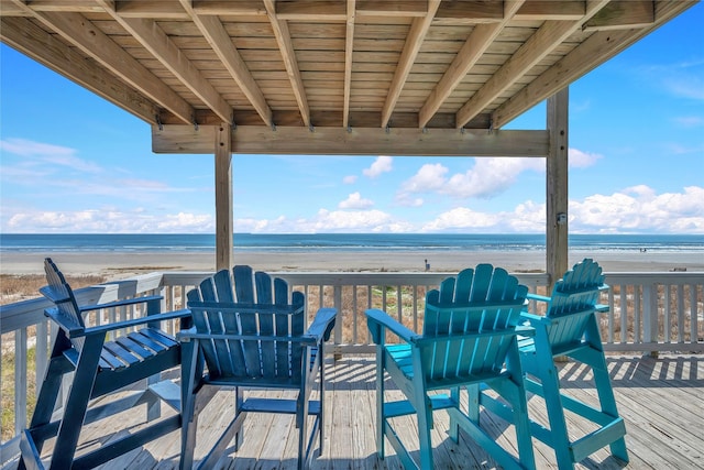
<instances>
[{"instance_id":1,"label":"pale sandy beach strip between the ocean and the railing","mask_svg":"<svg viewBox=\"0 0 704 470\"><path fill-rule=\"evenodd\" d=\"M2 274L43 274L47 253L0 253ZM124 278L152 271L213 271L215 253L202 252L52 252L52 259L66 274L99 274L108 278ZM603 252L570 253L570 265L583 258L593 258L606 272L704 271L700 253ZM237 252L237 264L257 270L338 271L338 272L414 272L424 271L428 260L430 271L457 272L477 263L492 263L509 272L544 271L546 254L509 251L339 251L339 252Z\"/></svg>"}]
</instances>

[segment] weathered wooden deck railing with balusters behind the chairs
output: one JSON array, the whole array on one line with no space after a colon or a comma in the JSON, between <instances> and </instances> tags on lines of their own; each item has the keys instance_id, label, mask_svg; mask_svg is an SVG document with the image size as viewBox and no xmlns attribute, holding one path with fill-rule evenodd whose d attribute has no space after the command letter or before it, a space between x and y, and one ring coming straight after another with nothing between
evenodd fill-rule
<instances>
[{"instance_id":1,"label":"weathered wooden deck railing with balusters behind the chairs","mask_svg":"<svg viewBox=\"0 0 704 470\"><path fill-rule=\"evenodd\" d=\"M152 273L124 281L76 291L79 304L98 304L141 295L164 296L162 311L184 308L185 294L207 272ZM336 354L371 352L364 310L381 308L409 328L420 330L425 293L450 273L271 273L288 281L306 294L308 310L338 308L333 334ZM516 273L534 293L544 294L546 274ZM652 353L654 351L704 352L704 273L607 273L610 288L602 302L609 310L602 314L602 339L609 351ZM16 436L31 415L35 384L41 383L47 364L47 351L55 329L44 317L48 302L36 298L0 306L0 359L2 381L14 385L3 389L3 407L13 404L12 423L4 423L0 444L0 466L16 451ZM536 309L536 305L531 309ZM108 323L134 315L129 309L103 311L91 319ZM175 332L176 324L164 326ZM11 396L7 396L10 394ZM18 411L26 409L26 413Z\"/></svg>"}]
</instances>

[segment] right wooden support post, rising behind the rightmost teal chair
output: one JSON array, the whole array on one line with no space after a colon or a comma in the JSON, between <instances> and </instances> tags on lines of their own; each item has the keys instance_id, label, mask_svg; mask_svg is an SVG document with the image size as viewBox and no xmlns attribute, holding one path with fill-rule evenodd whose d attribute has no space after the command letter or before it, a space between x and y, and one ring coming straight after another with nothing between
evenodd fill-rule
<instances>
[{"instance_id":1,"label":"right wooden support post, rising behind the rightmost teal chair","mask_svg":"<svg viewBox=\"0 0 704 470\"><path fill-rule=\"evenodd\" d=\"M552 292L568 270L568 114L569 88L548 98L550 151L547 159L547 270Z\"/></svg>"}]
</instances>

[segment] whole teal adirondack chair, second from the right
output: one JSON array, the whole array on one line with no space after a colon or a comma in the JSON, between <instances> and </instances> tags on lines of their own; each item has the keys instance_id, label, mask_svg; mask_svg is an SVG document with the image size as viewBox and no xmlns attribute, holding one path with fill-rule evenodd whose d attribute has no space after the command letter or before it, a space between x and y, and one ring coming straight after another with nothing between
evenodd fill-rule
<instances>
[{"instance_id":1,"label":"whole teal adirondack chair, second from the right","mask_svg":"<svg viewBox=\"0 0 704 470\"><path fill-rule=\"evenodd\" d=\"M462 427L502 467L535 468L516 328L527 292L505 270L480 264L446 278L439 291L428 292L422 335L382 310L366 310L369 329L377 345L376 448L382 459L386 438L405 468L418 468L392 427L393 418L417 414L419 467L432 469L432 413L447 409L450 437L455 442ZM387 343L387 334L398 337L400 342ZM385 401L386 374L407 400ZM517 423L518 458L480 426L483 384L512 406L513 422ZM460 407L461 387L469 392L466 414ZM438 390L450 393L429 393Z\"/></svg>"}]
</instances>

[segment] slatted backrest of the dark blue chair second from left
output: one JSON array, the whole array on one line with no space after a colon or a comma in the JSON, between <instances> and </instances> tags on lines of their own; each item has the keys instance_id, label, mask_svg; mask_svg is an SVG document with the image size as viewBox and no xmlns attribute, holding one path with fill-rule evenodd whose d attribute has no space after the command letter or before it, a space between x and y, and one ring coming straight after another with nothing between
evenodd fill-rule
<instances>
[{"instance_id":1,"label":"slatted backrest of the dark blue chair second from left","mask_svg":"<svg viewBox=\"0 0 704 470\"><path fill-rule=\"evenodd\" d=\"M188 294L211 379L300 381L301 348L292 339L306 328L305 297L288 284L250 266L234 266L206 278Z\"/></svg>"}]
</instances>

